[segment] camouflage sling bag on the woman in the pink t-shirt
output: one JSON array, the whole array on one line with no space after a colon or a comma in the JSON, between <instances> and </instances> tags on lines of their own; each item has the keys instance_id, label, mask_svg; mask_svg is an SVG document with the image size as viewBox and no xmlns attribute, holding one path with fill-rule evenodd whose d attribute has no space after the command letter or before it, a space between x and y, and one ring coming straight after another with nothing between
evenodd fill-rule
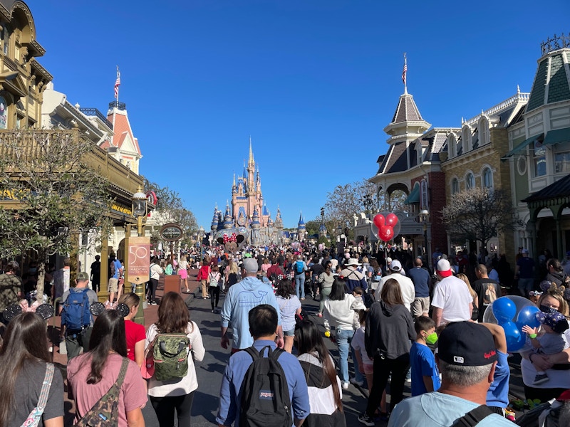
<instances>
[{"instance_id":1,"label":"camouflage sling bag on the woman in the pink t-shirt","mask_svg":"<svg viewBox=\"0 0 570 427\"><path fill-rule=\"evenodd\" d=\"M128 367L129 359L123 357L123 362L120 364L119 377L115 384L93 405L93 408L90 408L88 413L81 417L81 420L73 424L73 427L104 427L117 425L117 420L119 419L120 388L123 386Z\"/></svg>"}]
</instances>

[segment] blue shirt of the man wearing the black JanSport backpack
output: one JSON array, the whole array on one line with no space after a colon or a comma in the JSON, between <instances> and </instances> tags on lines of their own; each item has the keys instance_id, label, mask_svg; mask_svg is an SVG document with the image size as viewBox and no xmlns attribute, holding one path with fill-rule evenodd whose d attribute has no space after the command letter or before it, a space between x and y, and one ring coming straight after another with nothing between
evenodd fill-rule
<instances>
[{"instance_id":1,"label":"blue shirt of the man wearing the black JanSport backpack","mask_svg":"<svg viewBox=\"0 0 570 427\"><path fill-rule=\"evenodd\" d=\"M271 349L276 349L275 343L268 340L257 340L253 345L258 352L268 345ZM301 368L299 360L287 352L281 353L277 360L281 364L287 379L293 418L305 419L311 412L311 406L303 368ZM217 423L230 426L235 422L234 427L239 426L239 407L242 402L242 395L239 392L242 389L242 381L244 381L247 369L252 362L252 357L247 352L237 352L229 358L222 377L222 386L219 390Z\"/></svg>"}]
</instances>

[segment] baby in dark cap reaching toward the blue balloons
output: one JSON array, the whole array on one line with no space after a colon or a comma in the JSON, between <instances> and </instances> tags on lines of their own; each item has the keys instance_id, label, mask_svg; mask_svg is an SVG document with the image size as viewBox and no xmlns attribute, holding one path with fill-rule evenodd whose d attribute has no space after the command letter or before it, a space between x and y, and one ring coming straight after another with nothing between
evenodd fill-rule
<instances>
[{"instance_id":1,"label":"baby in dark cap reaching toward the blue balloons","mask_svg":"<svg viewBox=\"0 0 570 427\"><path fill-rule=\"evenodd\" d=\"M564 331L568 329L568 321L562 313L553 311L549 313L538 312L537 320L542 325L539 328L524 325L522 332L529 335L534 352L541 354L556 354L569 347L564 339ZM537 371L533 386L548 381L548 375L544 371Z\"/></svg>"}]
</instances>

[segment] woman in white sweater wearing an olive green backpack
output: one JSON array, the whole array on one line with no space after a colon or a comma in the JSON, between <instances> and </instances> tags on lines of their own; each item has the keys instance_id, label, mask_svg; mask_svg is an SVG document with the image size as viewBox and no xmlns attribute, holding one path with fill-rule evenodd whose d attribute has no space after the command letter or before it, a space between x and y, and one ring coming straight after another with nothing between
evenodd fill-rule
<instances>
[{"instance_id":1,"label":"woman in white sweater wearing an olive green backpack","mask_svg":"<svg viewBox=\"0 0 570 427\"><path fill-rule=\"evenodd\" d=\"M159 372L155 363L155 374L148 383L150 403L155 408L160 427L174 426L175 411L178 426L190 426L194 391L198 388L194 360L202 361L205 353L202 334L200 334L198 325L190 320L186 303L176 292L167 292L158 306L157 322L150 325L147 330L145 344L147 347L149 345L154 347L156 357L157 346L160 349L161 345L159 342L165 342L166 347L167 342L172 341L172 338L180 341L181 335L188 343L187 348L181 349L187 355L185 362L180 363L179 357L172 359L175 363L174 369L177 369L177 365L184 365L187 369L186 374L180 378L157 379ZM194 354L194 357L190 352ZM163 363L165 371L167 371L166 363Z\"/></svg>"}]
</instances>

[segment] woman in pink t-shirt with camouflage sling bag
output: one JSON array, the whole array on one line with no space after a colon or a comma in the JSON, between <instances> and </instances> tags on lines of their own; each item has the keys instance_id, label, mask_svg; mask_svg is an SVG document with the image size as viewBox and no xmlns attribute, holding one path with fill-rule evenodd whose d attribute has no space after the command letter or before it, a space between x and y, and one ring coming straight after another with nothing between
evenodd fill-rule
<instances>
[{"instance_id":1,"label":"woman in pink t-shirt with camouflage sling bag","mask_svg":"<svg viewBox=\"0 0 570 427\"><path fill-rule=\"evenodd\" d=\"M93 325L90 350L73 357L67 366L68 394L76 402L76 423L88 425L87 418L109 411L118 427L144 425L142 407L147 403L140 368L127 357L125 321L118 310L105 310ZM115 418L116 417L116 418Z\"/></svg>"}]
</instances>

